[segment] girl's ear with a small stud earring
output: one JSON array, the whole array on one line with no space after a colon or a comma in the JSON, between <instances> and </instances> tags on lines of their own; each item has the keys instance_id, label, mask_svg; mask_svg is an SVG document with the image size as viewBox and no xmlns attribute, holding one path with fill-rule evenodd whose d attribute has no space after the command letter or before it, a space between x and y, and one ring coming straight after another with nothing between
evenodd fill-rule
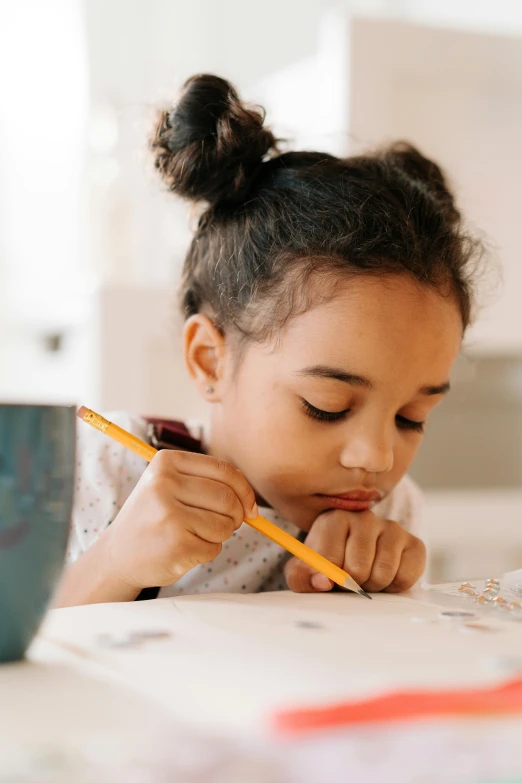
<instances>
[{"instance_id":1,"label":"girl's ear with a small stud earring","mask_svg":"<svg viewBox=\"0 0 522 783\"><path fill-rule=\"evenodd\" d=\"M197 313L183 330L185 365L199 393L210 402L220 400L225 374L225 338L206 315Z\"/></svg>"}]
</instances>

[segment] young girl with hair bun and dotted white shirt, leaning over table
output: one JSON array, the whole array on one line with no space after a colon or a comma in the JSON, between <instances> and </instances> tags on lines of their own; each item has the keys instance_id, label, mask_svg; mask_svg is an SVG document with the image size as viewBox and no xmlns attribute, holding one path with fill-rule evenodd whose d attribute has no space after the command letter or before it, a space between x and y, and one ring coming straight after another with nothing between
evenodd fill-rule
<instances>
[{"instance_id":1,"label":"young girl with hair bun and dotted white shirt, leaning over table","mask_svg":"<svg viewBox=\"0 0 522 783\"><path fill-rule=\"evenodd\" d=\"M153 139L205 208L181 286L207 437L112 416L167 446L149 466L80 425L61 605L332 583L243 524L260 512L369 591L425 567L406 472L449 390L476 243L440 168L407 144L280 154L262 114L189 80Z\"/></svg>"}]
</instances>

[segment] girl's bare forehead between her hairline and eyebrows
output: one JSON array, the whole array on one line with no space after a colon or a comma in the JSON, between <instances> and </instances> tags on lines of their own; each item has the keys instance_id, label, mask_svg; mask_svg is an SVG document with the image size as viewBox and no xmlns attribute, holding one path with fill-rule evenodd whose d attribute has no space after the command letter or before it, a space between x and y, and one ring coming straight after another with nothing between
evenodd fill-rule
<instances>
[{"instance_id":1,"label":"girl's bare forehead between her hairline and eyebrows","mask_svg":"<svg viewBox=\"0 0 522 783\"><path fill-rule=\"evenodd\" d=\"M433 366L449 373L462 340L457 303L407 277L359 277L293 318L274 355L299 363Z\"/></svg>"}]
</instances>

